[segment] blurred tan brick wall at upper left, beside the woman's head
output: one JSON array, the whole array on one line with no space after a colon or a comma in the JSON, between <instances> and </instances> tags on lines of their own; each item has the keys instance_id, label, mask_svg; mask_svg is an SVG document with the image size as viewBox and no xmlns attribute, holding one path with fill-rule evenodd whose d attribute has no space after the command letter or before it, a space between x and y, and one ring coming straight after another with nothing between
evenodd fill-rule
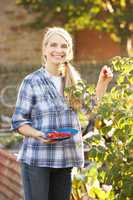
<instances>
[{"instance_id":1,"label":"blurred tan brick wall at upper left, beside the woman's head","mask_svg":"<svg viewBox=\"0 0 133 200\"><path fill-rule=\"evenodd\" d=\"M25 26L34 17L15 0L0 1L0 65L32 66L40 63L43 30Z\"/></svg>"}]
</instances>

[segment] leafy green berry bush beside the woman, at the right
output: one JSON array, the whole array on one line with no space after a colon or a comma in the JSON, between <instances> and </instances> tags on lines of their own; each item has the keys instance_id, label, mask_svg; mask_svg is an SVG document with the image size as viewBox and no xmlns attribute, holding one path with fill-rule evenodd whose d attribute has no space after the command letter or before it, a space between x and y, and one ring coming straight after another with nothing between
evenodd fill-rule
<instances>
[{"instance_id":1,"label":"leafy green berry bush beside the woman, at the right","mask_svg":"<svg viewBox=\"0 0 133 200\"><path fill-rule=\"evenodd\" d=\"M111 66L116 75L116 84L95 107L91 115L95 116L95 134L85 140L88 148L86 159L95 163L97 170L93 176L99 186L93 183L86 191L92 199L132 200L133 58L115 57ZM80 186L81 183L90 185L89 171L86 168L78 172L84 177L80 178ZM111 188L108 193L104 186Z\"/></svg>"}]
</instances>

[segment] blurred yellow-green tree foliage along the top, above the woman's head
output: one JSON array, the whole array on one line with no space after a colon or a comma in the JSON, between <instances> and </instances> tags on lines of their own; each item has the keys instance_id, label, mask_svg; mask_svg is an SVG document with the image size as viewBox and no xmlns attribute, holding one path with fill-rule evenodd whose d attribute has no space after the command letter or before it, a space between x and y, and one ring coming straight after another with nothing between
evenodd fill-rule
<instances>
[{"instance_id":1,"label":"blurred yellow-green tree foliage along the top, above the woman's head","mask_svg":"<svg viewBox=\"0 0 133 200\"><path fill-rule=\"evenodd\" d=\"M133 33L132 0L16 0L16 3L40 13L34 23L36 27L57 19L69 31L86 27L102 30L123 45Z\"/></svg>"}]
</instances>

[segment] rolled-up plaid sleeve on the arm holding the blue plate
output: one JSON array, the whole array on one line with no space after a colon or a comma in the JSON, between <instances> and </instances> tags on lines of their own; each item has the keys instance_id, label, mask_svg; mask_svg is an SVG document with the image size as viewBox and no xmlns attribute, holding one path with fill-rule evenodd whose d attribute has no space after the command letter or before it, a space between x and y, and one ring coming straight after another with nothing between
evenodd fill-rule
<instances>
[{"instance_id":1,"label":"rolled-up plaid sleeve on the arm holding the blue plate","mask_svg":"<svg viewBox=\"0 0 133 200\"><path fill-rule=\"evenodd\" d=\"M24 124L31 124L33 88L31 80L24 79L20 85L15 111L12 116L11 129L17 130Z\"/></svg>"}]
</instances>

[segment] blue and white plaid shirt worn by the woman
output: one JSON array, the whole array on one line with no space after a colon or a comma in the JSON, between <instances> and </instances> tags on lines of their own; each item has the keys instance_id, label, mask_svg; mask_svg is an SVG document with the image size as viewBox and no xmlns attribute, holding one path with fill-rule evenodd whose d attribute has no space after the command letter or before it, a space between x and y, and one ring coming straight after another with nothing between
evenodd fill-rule
<instances>
[{"instance_id":1,"label":"blue and white plaid shirt worn by the woman","mask_svg":"<svg viewBox=\"0 0 133 200\"><path fill-rule=\"evenodd\" d=\"M54 144L42 144L32 137L25 137L18 160L40 167L81 167L83 165L83 142L77 114L68 106L50 80L44 67L23 80L12 116L12 128L24 124L41 131L48 129L76 128L79 134Z\"/></svg>"}]
</instances>

